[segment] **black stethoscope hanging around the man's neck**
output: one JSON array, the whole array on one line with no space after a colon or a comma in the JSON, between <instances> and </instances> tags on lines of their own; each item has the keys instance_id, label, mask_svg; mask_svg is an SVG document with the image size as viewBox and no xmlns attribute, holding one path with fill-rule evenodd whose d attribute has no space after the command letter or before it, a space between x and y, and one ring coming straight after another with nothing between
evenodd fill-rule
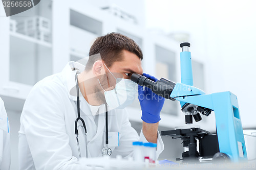
<instances>
[{"instance_id":1,"label":"black stethoscope hanging around the man's neck","mask_svg":"<svg viewBox=\"0 0 256 170\"><path fill-rule=\"evenodd\" d=\"M79 158L81 158L81 151L80 151L80 145L78 140L78 128L77 123L80 120L82 122L82 127L84 128L84 138L86 139L86 157L88 158L88 148L87 148L87 129L86 129L86 123L84 123L84 120L80 117L80 98L79 98L79 86L78 86L78 80L77 80L78 74L76 73L75 79L76 79L76 94L77 94L77 118L75 120L75 134L76 134L76 143L77 143L77 149L79 153ZM108 147L109 145L109 130L108 130L108 107L105 105L105 120L106 120L106 145L102 148L101 154L102 156L105 155L111 155L112 150Z\"/></svg>"}]
</instances>

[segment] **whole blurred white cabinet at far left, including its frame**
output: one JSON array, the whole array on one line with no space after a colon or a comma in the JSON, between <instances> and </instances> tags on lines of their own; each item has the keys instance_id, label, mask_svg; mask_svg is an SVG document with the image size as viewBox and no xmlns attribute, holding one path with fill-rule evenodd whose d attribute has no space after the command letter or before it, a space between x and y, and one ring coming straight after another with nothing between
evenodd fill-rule
<instances>
[{"instance_id":1,"label":"whole blurred white cabinet at far left, including its frame","mask_svg":"<svg viewBox=\"0 0 256 170\"><path fill-rule=\"evenodd\" d=\"M25 100L37 81L52 74L51 6L46 0L1 17L1 96Z\"/></svg>"}]
</instances>

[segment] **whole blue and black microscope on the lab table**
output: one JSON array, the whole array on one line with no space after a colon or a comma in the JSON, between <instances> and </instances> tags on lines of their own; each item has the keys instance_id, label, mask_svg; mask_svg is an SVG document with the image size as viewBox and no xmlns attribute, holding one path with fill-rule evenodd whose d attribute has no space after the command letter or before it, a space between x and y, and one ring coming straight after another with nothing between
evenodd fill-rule
<instances>
[{"instance_id":1,"label":"whole blue and black microscope on the lab table","mask_svg":"<svg viewBox=\"0 0 256 170\"><path fill-rule=\"evenodd\" d=\"M181 83L174 83L161 78L152 81L144 76L133 74L131 80L165 99L180 102L185 114L185 124L193 124L193 117L199 122L202 115L208 116L215 112L216 133L200 128L175 129L162 131L162 136L170 136L183 140L183 147L188 151L182 153L182 162L199 162L200 158L210 158L212 161L239 162L247 160L243 128L240 118L237 96L230 91L205 94L193 86L190 44L180 44ZM197 151L197 140L199 152Z\"/></svg>"}]
</instances>

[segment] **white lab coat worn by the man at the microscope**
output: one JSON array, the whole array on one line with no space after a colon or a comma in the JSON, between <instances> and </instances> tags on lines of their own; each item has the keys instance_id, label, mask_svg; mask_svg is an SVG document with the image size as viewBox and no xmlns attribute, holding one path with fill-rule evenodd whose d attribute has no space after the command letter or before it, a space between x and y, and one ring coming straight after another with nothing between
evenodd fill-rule
<instances>
[{"instance_id":1,"label":"white lab coat worn by the man at the microscope","mask_svg":"<svg viewBox=\"0 0 256 170\"><path fill-rule=\"evenodd\" d=\"M19 169L82 169L78 163L78 149L75 135L77 118L76 96L71 95L75 87L75 74L71 67L80 71L84 66L69 62L59 74L39 81L31 90L20 117L19 130ZM81 94L80 94L81 95ZM80 97L81 117L87 127L88 156L101 157L103 133L105 132L105 106L95 109ZM95 110L98 115L95 123ZM112 147L112 157L133 154L133 141L146 142L143 133L140 137L131 127L126 109L109 111L109 132L119 132L120 145ZM79 133L81 155L86 155L85 140ZM157 140L157 156L164 145L160 134Z\"/></svg>"}]
</instances>

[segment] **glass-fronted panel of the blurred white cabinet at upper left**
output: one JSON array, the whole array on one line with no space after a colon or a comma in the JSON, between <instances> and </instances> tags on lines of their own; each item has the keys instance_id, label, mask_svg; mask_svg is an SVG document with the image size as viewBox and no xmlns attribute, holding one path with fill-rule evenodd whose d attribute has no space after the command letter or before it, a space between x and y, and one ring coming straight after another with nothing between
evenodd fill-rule
<instances>
[{"instance_id":1,"label":"glass-fronted panel of the blurred white cabinet at upper left","mask_svg":"<svg viewBox=\"0 0 256 170\"><path fill-rule=\"evenodd\" d=\"M13 15L10 21L16 29L10 32L9 81L33 86L52 74L52 1Z\"/></svg>"}]
</instances>

